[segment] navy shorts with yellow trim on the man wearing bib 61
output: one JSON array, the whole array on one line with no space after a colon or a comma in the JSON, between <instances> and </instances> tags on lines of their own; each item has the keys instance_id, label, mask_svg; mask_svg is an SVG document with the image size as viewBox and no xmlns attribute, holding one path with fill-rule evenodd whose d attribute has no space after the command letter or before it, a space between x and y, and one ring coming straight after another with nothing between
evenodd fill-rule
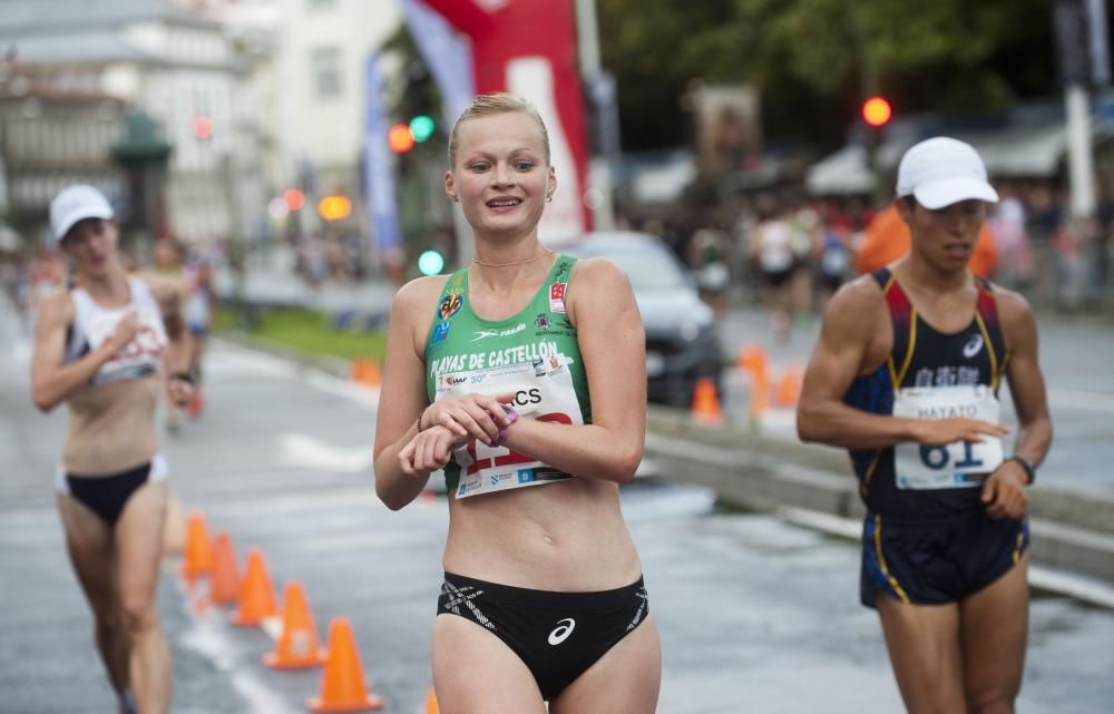
<instances>
[{"instance_id":1,"label":"navy shorts with yellow trim on the man wearing bib 61","mask_svg":"<svg viewBox=\"0 0 1114 714\"><path fill-rule=\"evenodd\" d=\"M1028 518L995 519L981 508L947 519L893 522L867 514L859 598L913 605L956 603L1009 571L1029 545Z\"/></svg>"}]
</instances>

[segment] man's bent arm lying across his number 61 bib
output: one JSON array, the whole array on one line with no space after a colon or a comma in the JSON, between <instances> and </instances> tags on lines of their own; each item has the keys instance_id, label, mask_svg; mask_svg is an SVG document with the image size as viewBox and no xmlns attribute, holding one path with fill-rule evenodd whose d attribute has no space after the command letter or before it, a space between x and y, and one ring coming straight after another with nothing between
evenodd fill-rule
<instances>
[{"instance_id":1,"label":"man's bent arm lying across his number 61 bib","mask_svg":"<svg viewBox=\"0 0 1114 714\"><path fill-rule=\"evenodd\" d=\"M881 293L869 275L844 285L832 297L820 340L804 373L797 433L848 449L880 449L902 441L942 446L981 441L983 434L1003 436L1006 429L974 419L903 419L856 409L843 395L868 361L879 325L889 315ZM873 343L878 351L878 343Z\"/></svg>"}]
</instances>

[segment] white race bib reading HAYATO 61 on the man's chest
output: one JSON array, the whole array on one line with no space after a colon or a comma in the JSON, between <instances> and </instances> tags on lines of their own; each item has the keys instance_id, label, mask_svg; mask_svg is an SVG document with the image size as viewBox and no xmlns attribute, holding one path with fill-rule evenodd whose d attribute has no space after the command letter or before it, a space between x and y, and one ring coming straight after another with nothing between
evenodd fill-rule
<instances>
[{"instance_id":1,"label":"white race bib reading HAYATO 61 on the man's chest","mask_svg":"<svg viewBox=\"0 0 1114 714\"><path fill-rule=\"evenodd\" d=\"M1001 404L986 384L905 388L893 399L893 415L906 419L979 419L998 423ZM900 489L974 488L1003 461L1001 439L957 441L942 447L899 443L893 470Z\"/></svg>"}]
</instances>

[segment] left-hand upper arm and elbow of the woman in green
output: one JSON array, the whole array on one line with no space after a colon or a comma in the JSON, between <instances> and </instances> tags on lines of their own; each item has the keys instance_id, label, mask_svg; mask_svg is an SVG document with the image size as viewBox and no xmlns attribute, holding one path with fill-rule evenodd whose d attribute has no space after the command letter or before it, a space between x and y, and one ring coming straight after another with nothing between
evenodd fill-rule
<instances>
[{"instance_id":1,"label":"left-hand upper arm and elbow of the woman in green","mask_svg":"<svg viewBox=\"0 0 1114 714\"><path fill-rule=\"evenodd\" d=\"M426 336L444 278L426 277L403 285L391 304L387 359L375 421L375 493L398 510L418 498L429 472L405 473L399 453L418 436L426 397Z\"/></svg>"}]
</instances>

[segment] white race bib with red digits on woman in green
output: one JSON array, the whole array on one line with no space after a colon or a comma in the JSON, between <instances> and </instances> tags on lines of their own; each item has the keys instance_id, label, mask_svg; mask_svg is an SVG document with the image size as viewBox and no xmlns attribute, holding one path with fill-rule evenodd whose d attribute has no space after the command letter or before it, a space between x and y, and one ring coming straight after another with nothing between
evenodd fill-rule
<instances>
[{"instance_id":1,"label":"white race bib with red digits on woman in green","mask_svg":"<svg viewBox=\"0 0 1114 714\"><path fill-rule=\"evenodd\" d=\"M472 392L514 393L511 405L520 419L584 423L567 358L561 354L550 354L532 363L453 372L437 378L437 399ZM490 447L476 439L455 451L453 460L460 466L457 498L575 478L531 457L506 447Z\"/></svg>"}]
</instances>

